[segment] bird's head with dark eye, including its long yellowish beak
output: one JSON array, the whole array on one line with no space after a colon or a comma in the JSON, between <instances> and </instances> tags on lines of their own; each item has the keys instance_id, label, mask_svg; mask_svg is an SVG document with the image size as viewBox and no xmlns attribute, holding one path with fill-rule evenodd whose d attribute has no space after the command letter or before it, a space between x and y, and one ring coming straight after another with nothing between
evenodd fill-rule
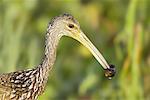
<instances>
[{"instance_id":1,"label":"bird's head with dark eye, including its long yellowish beak","mask_svg":"<svg viewBox=\"0 0 150 100\"><path fill-rule=\"evenodd\" d=\"M72 15L63 14L57 16L51 21L50 26L53 26L57 28L57 30L59 30L58 35L71 37L83 44L102 65L103 69L110 71L110 65L104 59L102 54L97 50L97 48L92 44L92 42L87 38L87 36L83 33L78 21ZM112 74L114 74L114 72Z\"/></svg>"}]
</instances>

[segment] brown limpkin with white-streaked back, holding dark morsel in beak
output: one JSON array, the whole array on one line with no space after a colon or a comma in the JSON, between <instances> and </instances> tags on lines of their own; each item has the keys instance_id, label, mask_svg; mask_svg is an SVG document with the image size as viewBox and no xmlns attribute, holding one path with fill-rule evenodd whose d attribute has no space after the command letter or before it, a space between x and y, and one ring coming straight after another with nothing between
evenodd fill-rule
<instances>
[{"instance_id":1,"label":"brown limpkin with white-streaked back, holding dark morsel in beak","mask_svg":"<svg viewBox=\"0 0 150 100\"><path fill-rule=\"evenodd\" d=\"M48 24L44 57L37 67L0 75L0 100L37 100L45 90L49 72L56 59L57 45L62 36L69 36L82 43L102 65L105 76L114 76L114 66L106 62L81 31L77 20L70 14L62 14Z\"/></svg>"}]
</instances>

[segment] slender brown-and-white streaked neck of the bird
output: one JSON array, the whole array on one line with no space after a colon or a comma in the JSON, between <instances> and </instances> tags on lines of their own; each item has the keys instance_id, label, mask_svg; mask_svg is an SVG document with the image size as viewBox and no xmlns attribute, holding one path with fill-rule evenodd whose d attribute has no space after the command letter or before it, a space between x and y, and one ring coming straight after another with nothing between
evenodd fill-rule
<instances>
[{"instance_id":1,"label":"slender brown-and-white streaked neck of the bird","mask_svg":"<svg viewBox=\"0 0 150 100\"><path fill-rule=\"evenodd\" d=\"M45 53L44 58L39 66L43 80L47 81L49 72L52 69L56 59L56 49L61 36L58 35L58 30L48 31L46 33Z\"/></svg>"}]
</instances>

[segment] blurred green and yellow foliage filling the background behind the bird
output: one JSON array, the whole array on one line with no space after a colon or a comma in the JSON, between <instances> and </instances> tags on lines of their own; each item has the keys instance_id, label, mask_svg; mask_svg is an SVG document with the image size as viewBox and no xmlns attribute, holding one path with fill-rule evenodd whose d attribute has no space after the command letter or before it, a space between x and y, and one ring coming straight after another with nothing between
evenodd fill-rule
<instances>
[{"instance_id":1,"label":"blurred green and yellow foliage filling the background behind the bird","mask_svg":"<svg viewBox=\"0 0 150 100\"><path fill-rule=\"evenodd\" d=\"M64 37L39 100L149 100L149 9L149 0L0 0L0 72L38 65L48 22L67 12L117 74L106 79L89 51Z\"/></svg>"}]
</instances>

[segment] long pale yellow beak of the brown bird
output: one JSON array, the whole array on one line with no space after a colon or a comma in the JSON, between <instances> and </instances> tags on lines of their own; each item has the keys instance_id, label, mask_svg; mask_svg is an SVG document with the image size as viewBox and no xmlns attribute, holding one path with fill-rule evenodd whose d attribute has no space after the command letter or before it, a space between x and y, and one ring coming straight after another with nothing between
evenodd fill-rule
<instances>
[{"instance_id":1,"label":"long pale yellow beak of the brown bird","mask_svg":"<svg viewBox=\"0 0 150 100\"><path fill-rule=\"evenodd\" d=\"M110 69L110 66L106 62L105 58L82 31L80 31L77 36L73 36L73 38L79 41L81 44L83 44L86 48L88 48L89 51L93 54L93 56L97 59L97 61L102 65L104 69Z\"/></svg>"}]
</instances>

